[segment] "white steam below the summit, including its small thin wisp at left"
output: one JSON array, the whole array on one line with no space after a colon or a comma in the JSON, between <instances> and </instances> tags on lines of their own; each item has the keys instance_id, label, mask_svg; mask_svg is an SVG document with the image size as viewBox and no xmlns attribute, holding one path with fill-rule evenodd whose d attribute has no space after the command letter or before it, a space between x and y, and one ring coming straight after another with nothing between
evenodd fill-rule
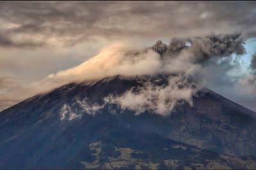
<instances>
[{"instance_id":1,"label":"white steam below the summit, including its small thin wisp at left","mask_svg":"<svg viewBox=\"0 0 256 170\"><path fill-rule=\"evenodd\" d=\"M159 81L159 80L156 80ZM89 99L76 99L71 105L65 103L61 107L61 120L81 118L83 114L95 115L104 106L116 104L122 111L131 110L135 115L148 111L163 116L170 115L175 106L188 103L193 106L192 97L202 87L189 80L184 74L168 76L168 82L156 85L150 81L143 83L143 87L134 87L120 96L104 97L104 104L90 103ZM113 110L114 111L114 110Z\"/></svg>"}]
</instances>

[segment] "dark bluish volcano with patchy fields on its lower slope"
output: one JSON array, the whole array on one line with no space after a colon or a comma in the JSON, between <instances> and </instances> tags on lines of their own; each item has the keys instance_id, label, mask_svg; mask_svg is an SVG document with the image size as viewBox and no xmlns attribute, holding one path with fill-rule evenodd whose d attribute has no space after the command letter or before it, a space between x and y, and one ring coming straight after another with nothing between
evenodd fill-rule
<instances>
[{"instance_id":1,"label":"dark bluish volcano with patchy fields on its lower slope","mask_svg":"<svg viewBox=\"0 0 256 170\"><path fill-rule=\"evenodd\" d=\"M169 77L68 83L1 111L0 169L255 169L256 113L211 90L165 115L106 103Z\"/></svg>"}]
</instances>

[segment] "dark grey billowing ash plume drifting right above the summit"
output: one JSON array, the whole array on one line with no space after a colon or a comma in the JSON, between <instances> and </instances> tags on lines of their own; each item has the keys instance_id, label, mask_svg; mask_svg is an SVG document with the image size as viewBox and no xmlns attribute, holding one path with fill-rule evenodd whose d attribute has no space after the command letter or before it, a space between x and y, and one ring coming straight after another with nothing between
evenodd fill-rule
<instances>
[{"instance_id":1,"label":"dark grey billowing ash plume drifting right above the summit","mask_svg":"<svg viewBox=\"0 0 256 170\"><path fill-rule=\"evenodd\" d=\"M157 41L152 48L163 56L185 57L190 62L197 63L209 59L210 57L228 57L232 53L244 54L244 41L241 34L212 35L196 38L173 38L167 46L161 41ZM186 45L186 44L189 45ZM184 56L185 55L185 56Z\"/></svg>"}]
</instances>

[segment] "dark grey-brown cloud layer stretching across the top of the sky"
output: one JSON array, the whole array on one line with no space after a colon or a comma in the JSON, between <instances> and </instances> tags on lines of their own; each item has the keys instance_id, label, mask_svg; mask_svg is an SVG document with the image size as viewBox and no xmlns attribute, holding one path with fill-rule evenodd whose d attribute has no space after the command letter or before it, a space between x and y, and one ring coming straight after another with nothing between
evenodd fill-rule
<instances>
[{"instance_id":1,"label":"dark grey-brown cloud layer stretching across the top of the sky","mask_svg":"<svg viewBox=\"0 0 256 170\"><path fill-rule=\"evenodd\" d=\"M244 37L255 36L255 7L255 2L239 1L2 1L0 45L74 45L97 38L194 37L239 31Z\"/></svg>"}]
</instances>

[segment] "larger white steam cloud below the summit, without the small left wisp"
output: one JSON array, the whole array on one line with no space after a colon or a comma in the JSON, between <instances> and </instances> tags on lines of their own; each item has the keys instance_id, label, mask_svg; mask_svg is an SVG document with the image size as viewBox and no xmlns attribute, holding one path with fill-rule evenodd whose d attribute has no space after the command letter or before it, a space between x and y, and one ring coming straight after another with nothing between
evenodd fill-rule
<instances>
[{"instance_id":1,"label":"larger white steam cloud below the summit, without the small left wisp","mask_svg":"<svg viewBox=\"0 0 256 170\"><path fill-rule=\"evenodd\" d=\"M106 103L118 104L122 110L135 111L136 115L149 111L159 115L169 115L175 106L184 102L193 106L192 96L200 87L189 82L183 75L170 76L168 85L156 86L147 82L143 87L133 92L128 90L122 96L108 96Z\"/></svg>"}]
</instances>

